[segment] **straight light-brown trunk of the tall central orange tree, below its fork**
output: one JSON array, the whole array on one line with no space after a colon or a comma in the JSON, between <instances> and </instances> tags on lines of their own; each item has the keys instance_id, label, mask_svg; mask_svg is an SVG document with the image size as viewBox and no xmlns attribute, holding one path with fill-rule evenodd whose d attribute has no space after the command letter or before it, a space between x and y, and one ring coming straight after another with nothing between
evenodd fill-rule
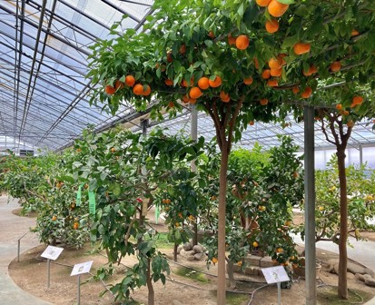
<instances>
[{"instance_id":1,"label":"straight light-brown trunk of the tall central orange tree, below its fork","mask_svg":"<svg viewBox=\"0 0 375 305\"><path fill-rule=\"evenodd\" d=\"M219 225L218 225L218 283L217 304L225 305L225 209L228 172L228 143L222 143L219 187Z\"/></svg>"}]
</instances>

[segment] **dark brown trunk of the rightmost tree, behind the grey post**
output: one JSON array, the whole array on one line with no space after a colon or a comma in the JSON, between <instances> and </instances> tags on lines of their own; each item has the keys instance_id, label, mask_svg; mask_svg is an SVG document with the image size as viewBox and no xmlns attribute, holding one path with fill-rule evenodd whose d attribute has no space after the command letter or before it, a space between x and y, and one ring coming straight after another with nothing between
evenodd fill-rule
<instances>
[{"instance_id":1,"label":"dark brown trunk of the rightmost tree, behind the grey post","mask_svg":"<svg viewBox=\"0 0 375 305\"><path fill-rule=\"evenodd\" d=\"M339 240L339 297L349 299L348 293L348 198L347 198L347 182L345 172L345 149L338 149L338 166L340 181L340 240Z\"/></svg>"}]
</instances>

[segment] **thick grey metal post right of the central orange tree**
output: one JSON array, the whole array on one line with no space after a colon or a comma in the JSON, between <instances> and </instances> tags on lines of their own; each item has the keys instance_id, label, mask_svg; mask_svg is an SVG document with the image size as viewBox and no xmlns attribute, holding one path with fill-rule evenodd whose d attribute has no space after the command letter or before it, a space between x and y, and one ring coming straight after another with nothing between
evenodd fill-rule
<instances>
[{"instance_id":1,"label":"thick grey metal post right of the central orange tree","mask_svg":"<svg viewBox=\"0 0 375 305\"><path fill-rule=\"evenodd\" d=\"M314 108L304 108L306 305L316 304Z\"/></svg>"}]
</instances>

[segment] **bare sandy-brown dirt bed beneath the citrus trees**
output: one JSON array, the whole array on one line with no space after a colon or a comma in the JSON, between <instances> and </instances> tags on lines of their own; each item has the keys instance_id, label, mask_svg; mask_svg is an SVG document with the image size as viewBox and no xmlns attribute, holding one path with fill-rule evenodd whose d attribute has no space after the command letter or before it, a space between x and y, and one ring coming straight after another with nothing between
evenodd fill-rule
<instances>
[{"instance_id":1,"label":"bare sandy-brown dirt bed beneath the citrus trees","mask_svg":"<svg viewBox=\"0 0 375 305\"><path fill-rule=\"evenodd\" d=\"M157 231L165 231L163 225L154 225ZM76 251L75 249L65 249L59 259L51 264L51 286L46 288L47 281L47 264L40 258L40 254L44 251L45 246L39 246L32 250L26 251L21 255L20 262L12 261L9 265L9 274L15 283L23 290L27 290L36 297L50 301L56 305L71 305L76 303L77 279L71 277L73 265L84 261L94 261L92 273L94 273L101 265L106 262L103 253L93 251L91 245L87 245L83 249ZM172 259L172 248L162 250L170 259ZM301 249L300 249L301 251ZM349 287L352 292L350 302L335 302L333 299L336 290L327 285L337 285L337 275L327 271L326 261L337 258L337 254L329 251L317 250L317 258L321 261L322 270L320 279L317 280L319 300L318 304L350 304L356 302L363 303L370 300L375 295L375 289L365 286L361 282L357 282L350 277ZM123 259L126 266L133 265L134 258ZM192 270L183 271L182 265L191 267L195 273L204 271L209 274L202 273L200 280L192 279ZM157 305L173 305L173 304L216 304L216 274L217 267L212 266L209 271L206 269L205 261L186 261L182 257L179 258L179 264L173 261L170 263L172 273L168 277L166 285L161 282L154 283L155 304ZM106 281L106 285L122 280L122 273L126 270L125 266L120 266L111 281ZM179 273L179 274L177 274ZM252 298L252 305L272 305L277 304L277 288L275 285L262 287L265 282L261 277L250 277L237 274L238 289L237 293L228 293L229 298L227 304L245 305ZM100 297L101 291L104 291L104 283L101 281L90 280L90 275L81 276L81 304L116 304L111 293L105 293L104 297ZM242 280L240 280L242 279ZM281 303L303 305L305 304L305 281L294 279L291 289L281 290ZM261 288L262 287L262 288ZM260 288L259 290L256 290ZM256 292L251 294L252 291ZM238 293L246 292L246 293ZM358 297L360 295L360 297ZM147 289L141 288L134 290L133 299L140 304L147 304ZM362 299L363 302L360 302ZM135 304L135 303L134 303Z\"/></svg>"}]
</instances>

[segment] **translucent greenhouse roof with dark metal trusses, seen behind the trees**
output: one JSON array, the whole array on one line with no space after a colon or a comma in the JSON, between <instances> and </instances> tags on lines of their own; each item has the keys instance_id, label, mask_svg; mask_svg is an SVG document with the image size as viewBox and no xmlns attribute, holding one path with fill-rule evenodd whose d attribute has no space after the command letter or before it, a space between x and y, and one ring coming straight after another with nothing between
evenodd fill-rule
<instances>
[{"instance_id":1,"label":"translucent greenhouse roof with dark metal trusses, seen behind the trees","mask_svg":"<svg viewBox=\"0 0 375 305\"><path fill-rule=\"evenodd\" d=\"M130 103L114 116L89 105L93 89L87 73L90 45L111 36L113 22L122 29L142 30L153 13L152 0L5 0L0 2L0 136L13 146L59 150L72 143L88 124L104 130L114 123L131 122L140 130L140 116ZM122 19L123 15L128 18ZM161 124L171 133L190 131L190 110ZM303 146L303 124L255 123L242 134L241 144L258 141L265 147L278 144L277 134L291 134ZM375 145L372 124L359 123L350 145ZM199 114L200 135L210 140L211 119ZM316 124L316 146L329 146ZM12 141L8 141L12 143ZM15 143L15 145L14 145ZM13 147L12 146L12 147ZM16 150L15 147L12 149Z\"/></svg>"}]
</instances>

